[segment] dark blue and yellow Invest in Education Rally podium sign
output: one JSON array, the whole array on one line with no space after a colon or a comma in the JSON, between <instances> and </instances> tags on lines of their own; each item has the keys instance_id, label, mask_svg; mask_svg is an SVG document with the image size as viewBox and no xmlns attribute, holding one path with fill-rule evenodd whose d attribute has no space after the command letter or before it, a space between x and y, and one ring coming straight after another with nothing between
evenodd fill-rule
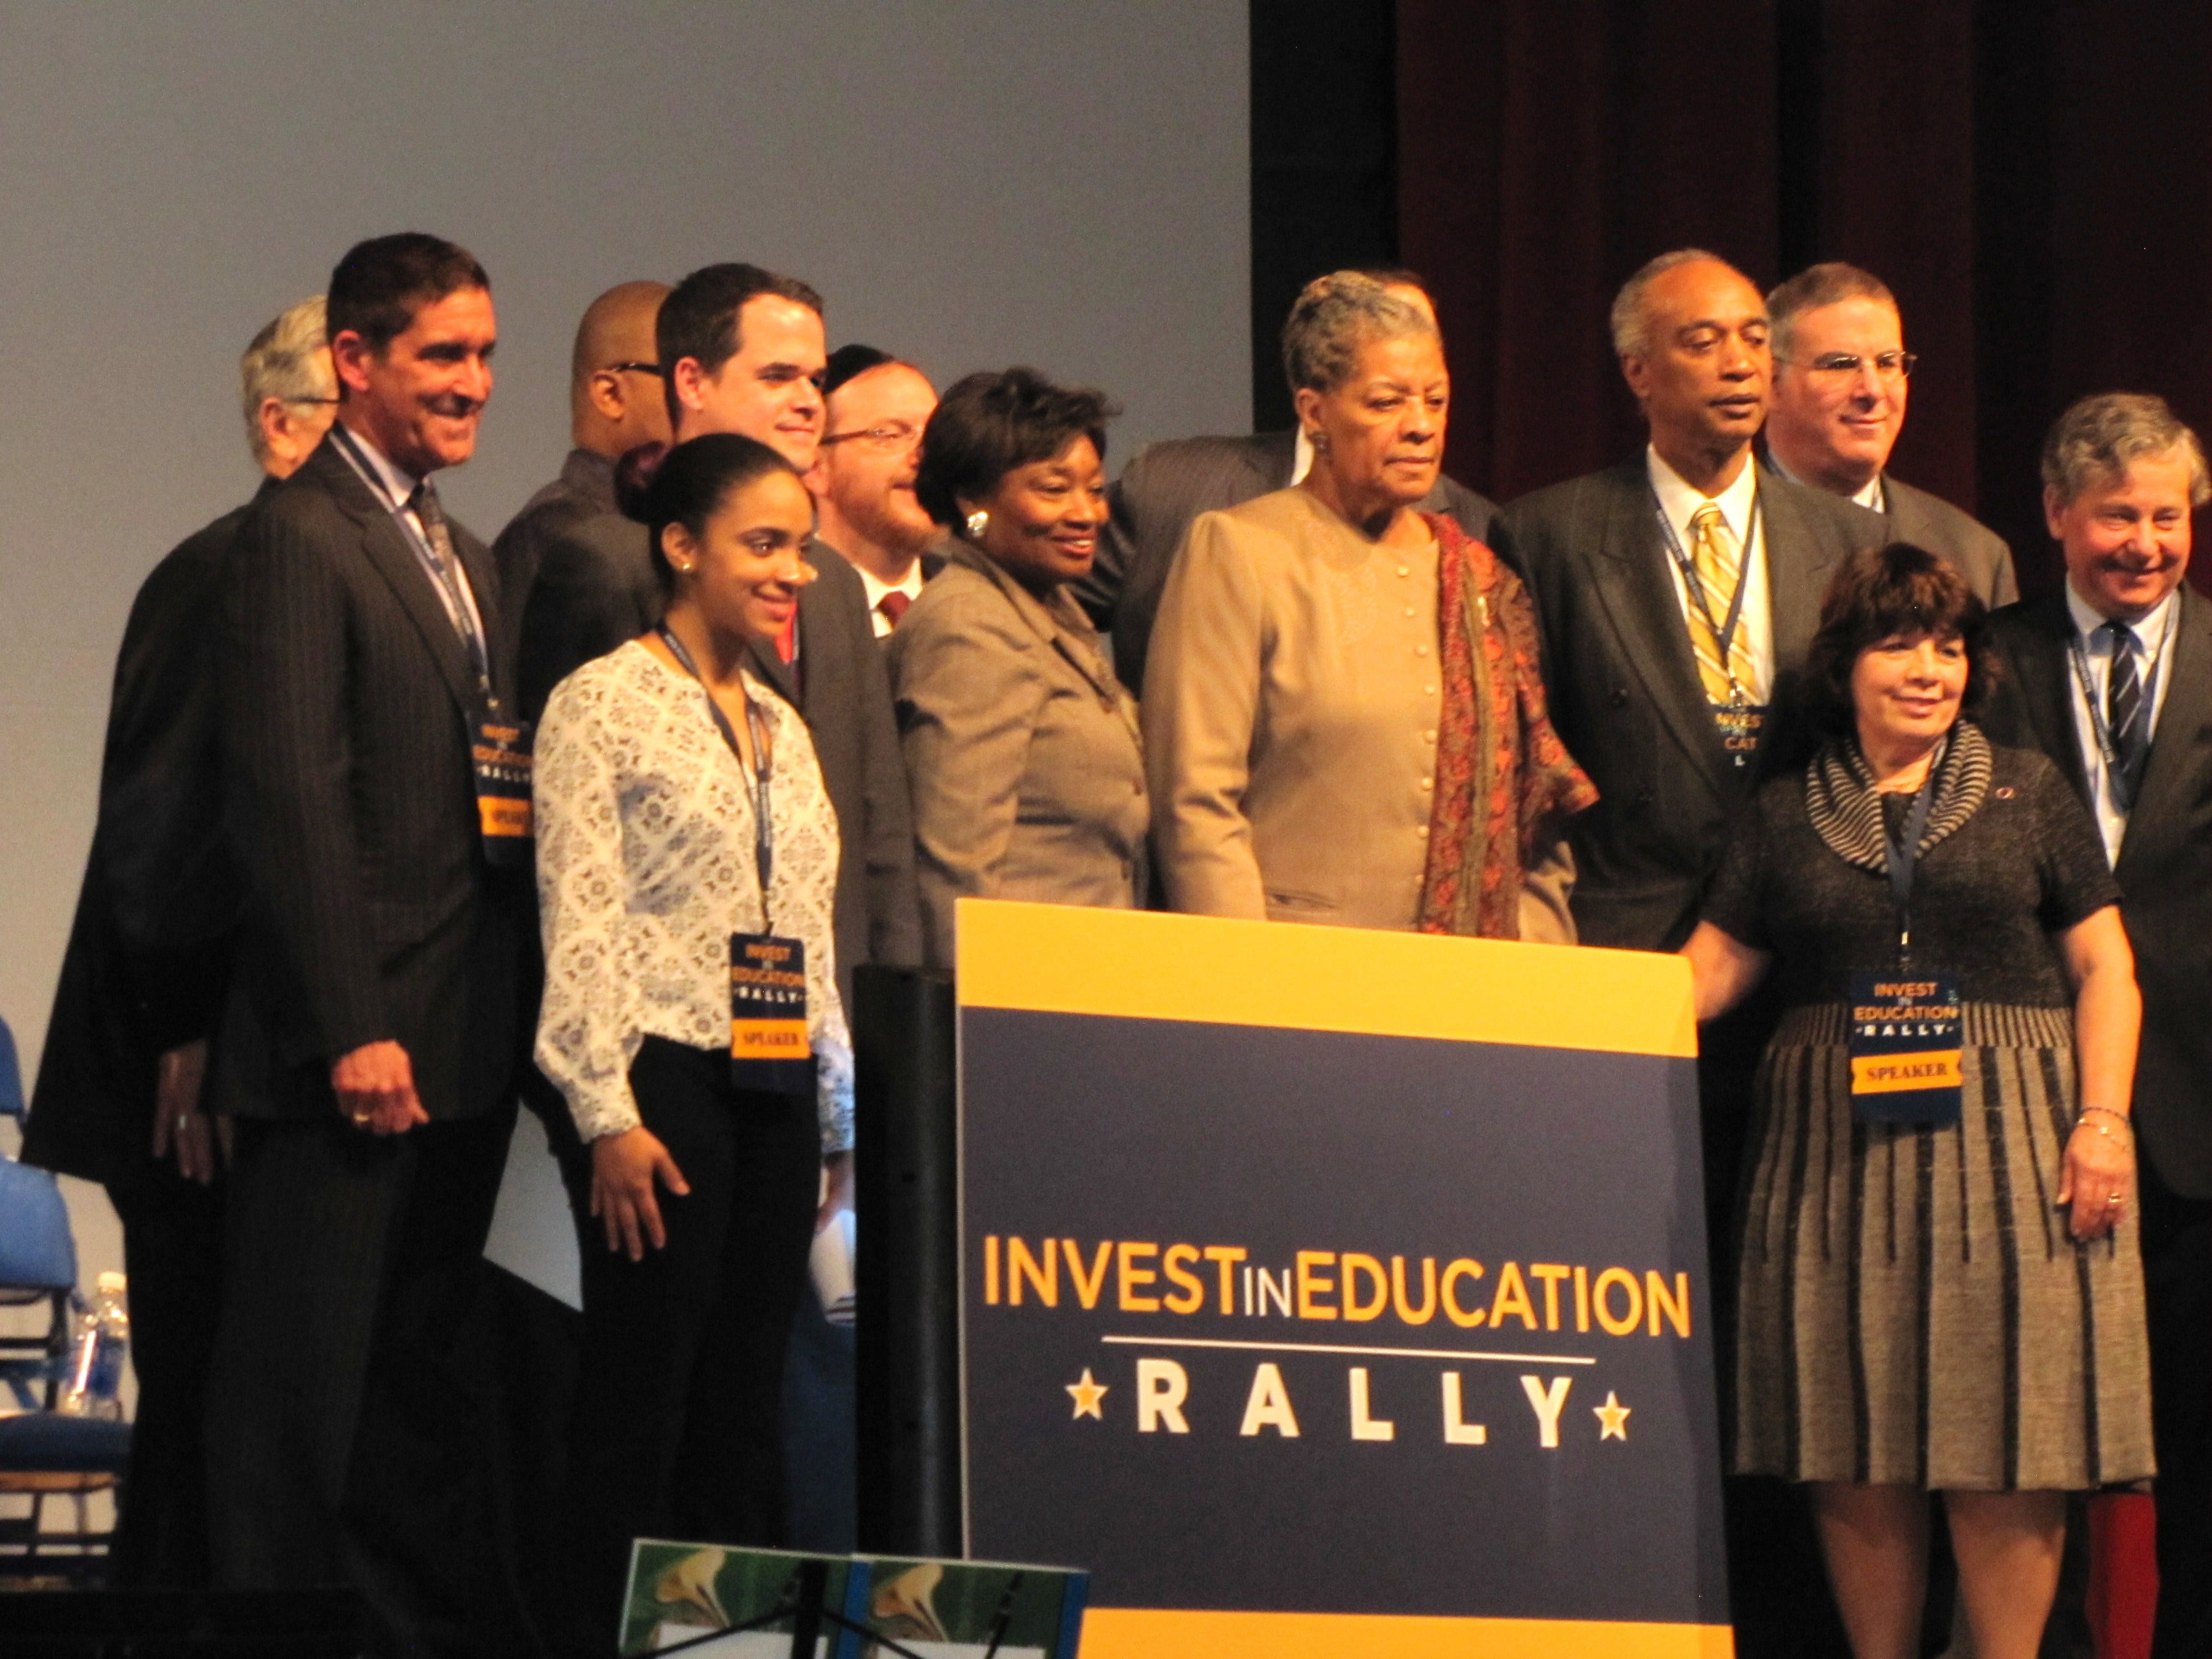
<instances>
[{"instance_id":1,"label":"dark blue and yellow Invest in Education Rally podium sign","mask_svg":"<svg viewBox=\"0 0 2212 1659\"><path fill-rule=\"evenodd\" d=\"M960 905L971 1555L1084 1659L1723 1659L1688 967Z\"/></svg>"}]
</instances>

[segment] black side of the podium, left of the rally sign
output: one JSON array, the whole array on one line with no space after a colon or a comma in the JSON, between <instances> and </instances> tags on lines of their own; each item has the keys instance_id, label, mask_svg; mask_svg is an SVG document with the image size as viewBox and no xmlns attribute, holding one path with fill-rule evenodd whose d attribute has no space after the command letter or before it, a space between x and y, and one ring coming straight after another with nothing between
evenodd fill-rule
<instances>
[{"instance_id":1,"label":"black side of the podium, left of the rally sign","mask_svg":"<svg viewBox=\"0 0 2212 1659\"><path fill-rule=\"evenodd\" d=\"M953 982L854 973L860 1548L962 1555Z\"/></svg>"}]
</instances>

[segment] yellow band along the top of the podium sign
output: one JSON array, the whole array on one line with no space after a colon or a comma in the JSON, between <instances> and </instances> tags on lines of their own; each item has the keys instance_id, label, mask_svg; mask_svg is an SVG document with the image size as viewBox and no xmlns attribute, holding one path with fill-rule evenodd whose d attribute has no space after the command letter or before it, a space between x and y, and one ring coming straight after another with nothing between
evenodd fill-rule
<instances>
[{"instance_id":1,"label":"yellow band along the top of the podium sign","mask_svg":"<svg viewBox=\"0 0 2212 1659\"><path fill-rule=\"evenodd\" d=\"M1697 1055L1655 951L962 898L956 969L964 1009Z\"/></svg>"}]
</instances>

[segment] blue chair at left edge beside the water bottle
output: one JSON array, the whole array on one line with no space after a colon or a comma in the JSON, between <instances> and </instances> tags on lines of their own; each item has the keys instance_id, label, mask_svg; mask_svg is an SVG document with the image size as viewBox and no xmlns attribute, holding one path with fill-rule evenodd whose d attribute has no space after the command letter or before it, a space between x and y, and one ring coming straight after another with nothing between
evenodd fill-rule
<instances>
[{"instance_id":1,"label":"blue chair at left edge beside the water bottle","mask_svg":"<svg viewBox=\"0 0 2212 1659\"><path fill-rule=\"evenodd\" d=\"M4 1020L0 1113L22 1119L22 1073ZM55 1411L75 1298L77 1245L60 1186L44 1170L0 1157L0 1307L46 1305L42 1332L0 1334L0 1380L27 1407L0 1416L0 1495L31 1500L29 1515L0 1515L0 1573L88 1584L106 1573L108 1533L86 1528L84 1498L111 1491L122 1504L131 1425ZM75 1528L46 1526L46 1504L55 1498L77 1502Z\"/></svg>"}]
</instances>

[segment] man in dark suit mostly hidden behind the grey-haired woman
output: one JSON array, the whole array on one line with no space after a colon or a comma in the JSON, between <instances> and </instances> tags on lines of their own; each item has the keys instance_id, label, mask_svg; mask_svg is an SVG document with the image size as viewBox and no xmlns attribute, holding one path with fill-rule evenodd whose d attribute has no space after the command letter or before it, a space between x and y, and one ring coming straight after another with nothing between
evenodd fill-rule
<instances>
[{"instance_id":1,"label":"man in dark suit mostly hidden behind the grey-haired woman","mask_svg":"<svg viewBox=\"0 0 2212 1659\"><path fill-rule=\"evenodd\" d=\"M1436 321L1436 303L1413 272L1360 274L1374 276ZM1312 465L1314 451L1305 434L1265 431L1256 438L1177 438L1148 445L1121 469L1106 491L1110 518L1091 575L1071 582L1068 591L1093 626L1113 635L1113 666L1124 686L1144 686L1152 617L1159 615L1159 595L1190 522L1199 513L1290 489ZM1451 478L1438 476L1420 511L1451 513L1478 542L1493 542L1498 504Z\"/></svg>"}]
</instances>

